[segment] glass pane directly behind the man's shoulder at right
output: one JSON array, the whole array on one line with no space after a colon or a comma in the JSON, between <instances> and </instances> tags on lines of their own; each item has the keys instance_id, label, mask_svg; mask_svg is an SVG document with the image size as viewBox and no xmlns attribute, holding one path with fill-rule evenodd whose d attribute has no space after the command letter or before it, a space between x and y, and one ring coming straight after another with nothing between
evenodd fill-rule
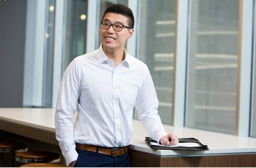
<instances>
[{"instance_id":1,"label":"glass pane directly behind the man's shoulder at right","mask_svg":"<svg viewBox=\"0 0 256 168\"><path fill-rule=\"evenodd\" d=\"M172 77L175 0L139 1L137 57L148 65L159 99L163 124L172 124ZM135 113L135 118L137 113Z\"/></svg>"}]
</instances>

